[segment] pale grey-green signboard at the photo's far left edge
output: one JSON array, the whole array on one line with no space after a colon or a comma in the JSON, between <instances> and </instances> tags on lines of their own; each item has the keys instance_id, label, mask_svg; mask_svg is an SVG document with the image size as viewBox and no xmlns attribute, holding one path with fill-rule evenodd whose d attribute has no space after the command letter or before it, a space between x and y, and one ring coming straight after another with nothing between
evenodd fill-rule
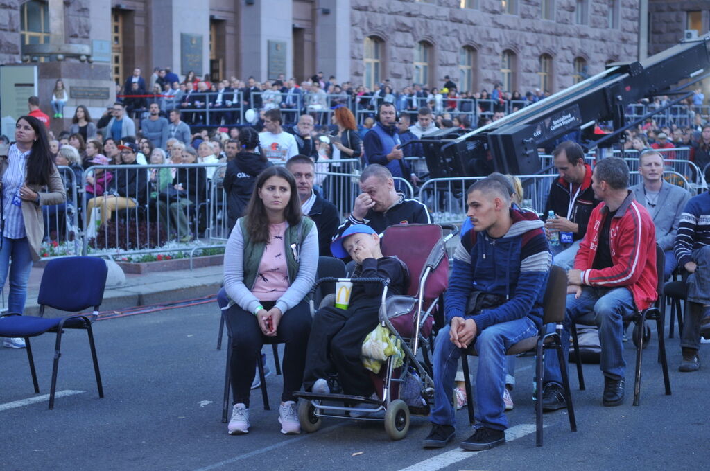
<instances>
[{"instance_id":1,"label":"pale grey-green signboard at the photo's far left edge","mask_svg":"<svg viewBox=\"0 0 710 471\"><path fill-rule=\"evenodd\" d=\"M27 114L27 99L37 95L37 66L36 65L4 65L0 67L0 117L3 120L2 133L13 139L14 121ZM11 123L9 129L5 122Z\"/></svg>"}]
</instances>

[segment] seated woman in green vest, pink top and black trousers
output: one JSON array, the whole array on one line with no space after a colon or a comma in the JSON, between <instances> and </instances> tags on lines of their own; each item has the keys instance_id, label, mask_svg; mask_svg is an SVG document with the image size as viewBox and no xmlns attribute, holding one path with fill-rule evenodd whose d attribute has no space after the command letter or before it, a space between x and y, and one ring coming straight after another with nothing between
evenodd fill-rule
<instances>
[{"instance_id":1,"label":"seated woman in green vest, pink top and black trousers","mask_svg":"<svg viewBox=\"0 0 710 471\"><path fill-rule=\"evenodd\" d=\"M230 434L249 432L249 392L266 337L285 343L281 433L300 433L293 393L302 385L311 326L305 297L317 265L317 229L301 214L293 175L285 167L266 168L224 253L224 289L231 299L226 323L234 358Z\"/></svg>"}]
</instances>

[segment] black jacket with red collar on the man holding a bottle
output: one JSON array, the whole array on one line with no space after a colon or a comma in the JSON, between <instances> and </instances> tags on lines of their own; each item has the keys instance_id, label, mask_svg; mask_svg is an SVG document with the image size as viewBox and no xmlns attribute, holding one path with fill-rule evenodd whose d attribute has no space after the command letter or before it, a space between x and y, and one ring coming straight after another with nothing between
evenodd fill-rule
<instances>
[{"instance_id":1,"label":"black jacket with red collar on the man holding a bottle","mask_svg":"<svg viewBox=\"0 0 710 471\"><path fill-rule=\"evenodd\" d=\"M586 170L584 172L584 181L581 182L579 194L577 194L577 199L574 200L574 206L572 206L572 212L569 214L569 220L579 225L579 231L576 234L572 234L573 240L579 240L584 237L591 210L599 204L599 200L594 197L594 190L591 189L591 167L584 164L584 169ZM547 221L547 214L550 214L550 209L555 211L555 214L559 214L559 216L567 217L569 200L572 199L572 196L574 195L569 193L569 182L567 180L559 178L553 182L542 219Z\"/></svg>"}]
</instances>

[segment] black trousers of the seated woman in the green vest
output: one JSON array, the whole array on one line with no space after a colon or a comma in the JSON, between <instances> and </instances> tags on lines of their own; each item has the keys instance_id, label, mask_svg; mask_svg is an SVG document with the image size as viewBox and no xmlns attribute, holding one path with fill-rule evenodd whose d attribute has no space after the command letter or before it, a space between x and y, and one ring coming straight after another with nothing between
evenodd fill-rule
<instances>
[{"instance_id":1,"label":"black trousers of the seated woman in the green vest","mask_svg":"<svg viewBox=\"0 0 710 471\"><path fill-rule=\"evenodd\" d=\"M274 304L262 303L265 309L271 309ZM275 339L278 343L286 344L282 363L282 401L295 401L293 393L301 389L310 325L311 315L306 301L301 301L283 313L278 324ZM261 333L256 316L236 304L226 311L226 326L231 336L231 392L234 404L241 402L249 407L249 392L256 372L256 361L268 337Z\"/></svg>"}]
</instances>

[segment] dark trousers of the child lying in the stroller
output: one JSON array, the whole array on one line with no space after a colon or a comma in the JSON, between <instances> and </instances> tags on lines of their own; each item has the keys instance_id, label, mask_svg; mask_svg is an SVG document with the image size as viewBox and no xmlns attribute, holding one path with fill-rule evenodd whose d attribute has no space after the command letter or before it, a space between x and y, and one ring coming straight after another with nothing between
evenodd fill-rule
<instances>
[{"instance_id":1,"label":"dark trousers of the child lying in the stroller","mask_svg":"<svg viewBox=\"0 0 710 471\"><path fill-rule=\"evenodd\" d=\"M313 387L316 379L338 372L338 382L345 394L369 397L375 391L369 372L362 365L360 353L368 333L378 323L379 300L351 305L349 309L327 306L313 318L303 386Z\"/></svg>"}]
</instances>

